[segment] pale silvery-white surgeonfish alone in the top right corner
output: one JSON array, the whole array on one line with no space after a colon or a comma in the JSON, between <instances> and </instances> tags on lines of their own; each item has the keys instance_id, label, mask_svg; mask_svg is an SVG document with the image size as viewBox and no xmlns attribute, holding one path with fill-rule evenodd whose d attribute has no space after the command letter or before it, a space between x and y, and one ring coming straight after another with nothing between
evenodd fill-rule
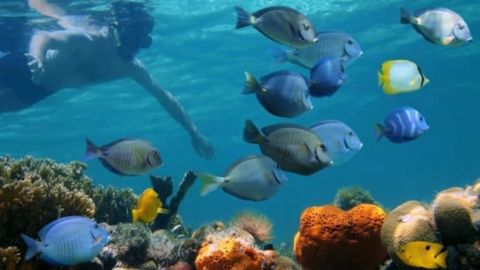
<instances>
[{"instance_id":1,"label":"pale silvery-white surgeonfish alone in the top right corner","mask_svg":"<svg viewBox=\"0 0 480 270\"><path fill-rule=\"evenodd\" d=\"M445 46L458 46L473 40L465 20L447 8L426 8L410 14L400 8L400 22L411 24L426 40Z\"/></svg>"}]
</instances>

